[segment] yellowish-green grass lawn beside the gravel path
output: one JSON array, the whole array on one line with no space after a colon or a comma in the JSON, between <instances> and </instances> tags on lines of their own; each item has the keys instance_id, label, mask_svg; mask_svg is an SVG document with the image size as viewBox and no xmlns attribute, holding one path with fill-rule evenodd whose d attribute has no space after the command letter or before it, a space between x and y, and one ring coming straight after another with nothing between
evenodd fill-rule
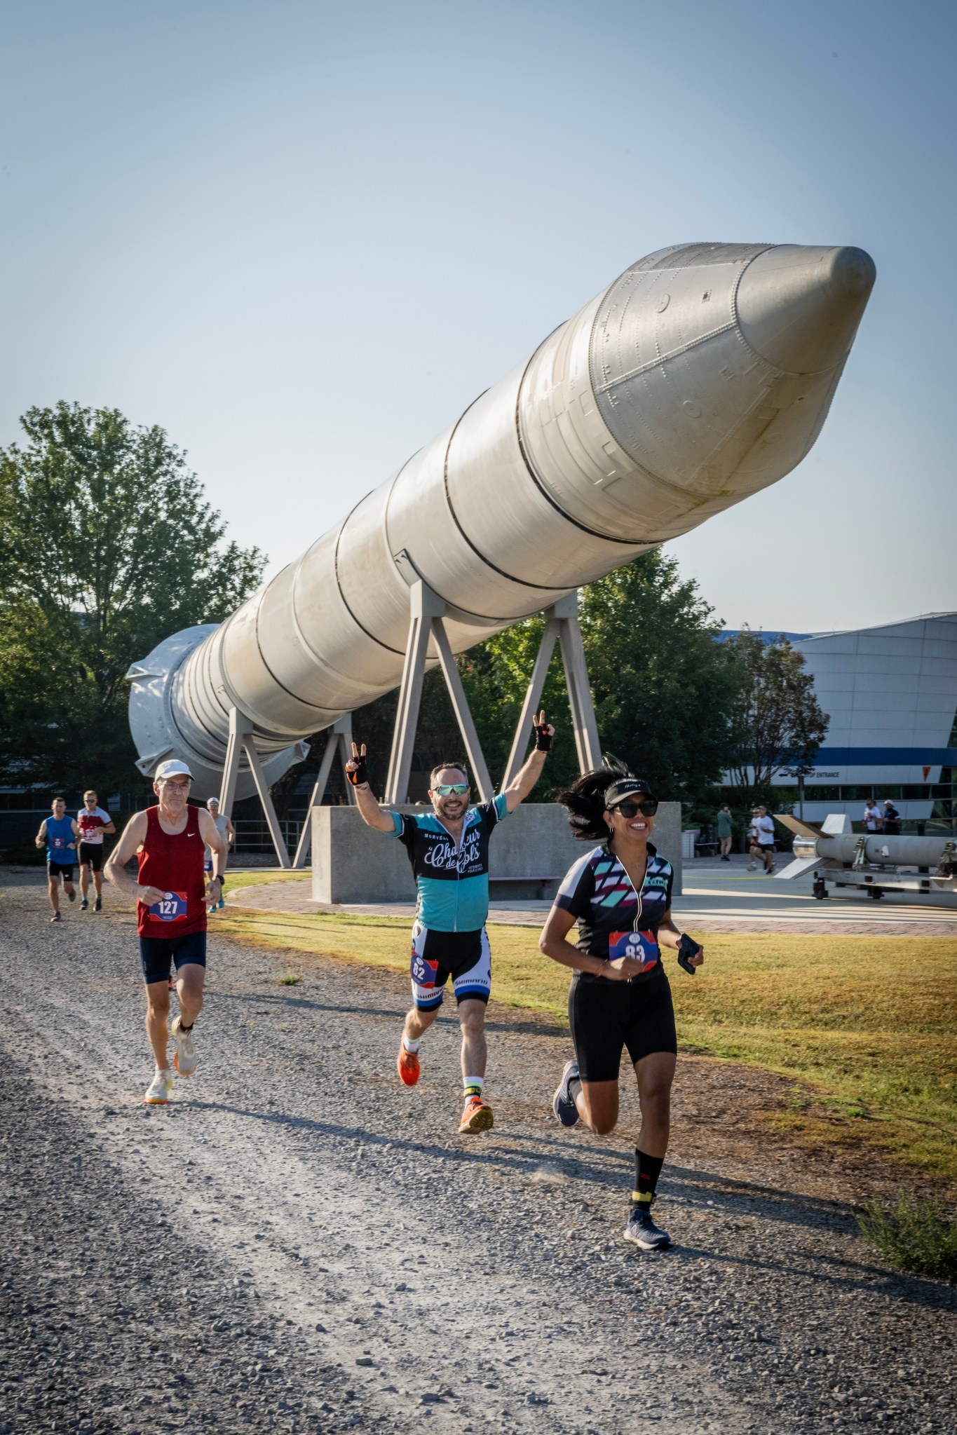
<instances>
[{"instance_id":1,"label":"yellowish-green grass lawn beside the gravel path","mask_svg":"<svg viewBox=\"0 0 957 1435\"><path fill-rule=\"evenodd\" d=\"M267 880L288 877L242 872L230 888ZM227 908L215 924L277 950L409 964L403 918ZM789 1109L769 1119L798 1141L865 1144L957 1180L957 941L692 934L707 950L697 976L667 956L683 1050L791 1078ZM495 999L567 1023L568 973L541 956L537 930L489 936Z\"/></svg>"}]
</instances>

